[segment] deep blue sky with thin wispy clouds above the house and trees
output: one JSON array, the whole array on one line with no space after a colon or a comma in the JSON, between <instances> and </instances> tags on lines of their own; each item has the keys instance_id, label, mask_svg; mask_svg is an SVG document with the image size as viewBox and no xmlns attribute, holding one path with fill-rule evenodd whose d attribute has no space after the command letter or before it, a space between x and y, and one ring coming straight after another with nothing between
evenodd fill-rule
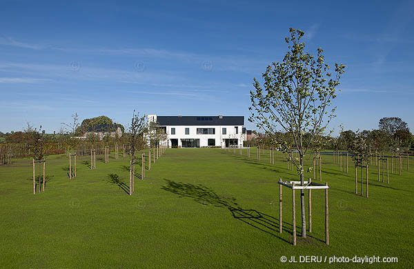
<instances>
[{"instance_id":1,"label":"deep blue sky with thin wispy clouds above the house and trees","mask_svg":"<svg viewBox=\"0 0 414 269\"><path fill-rule=\"evenodd\" d=\"M347 67L330 128L413 128L413 1L1 1L0 131L133 110L244 115L290 27Z\"/></svg>"}]
</instances>

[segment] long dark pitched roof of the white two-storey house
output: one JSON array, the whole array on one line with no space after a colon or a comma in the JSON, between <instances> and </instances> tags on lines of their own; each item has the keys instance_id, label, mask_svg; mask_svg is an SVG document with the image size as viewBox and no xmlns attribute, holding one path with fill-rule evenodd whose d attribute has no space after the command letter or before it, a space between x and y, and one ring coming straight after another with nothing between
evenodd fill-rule
<instances>
[{"instance_id":1,"label":"long dark pitched roof of the white two-storey house","mask_svg":"<svg viewBox=\"0 0 414 269\"><path fill-rule=\"evenodd\" d=\"M160 126L244 126L244 116L157 116Z\"/></svg>"}]
</instances>

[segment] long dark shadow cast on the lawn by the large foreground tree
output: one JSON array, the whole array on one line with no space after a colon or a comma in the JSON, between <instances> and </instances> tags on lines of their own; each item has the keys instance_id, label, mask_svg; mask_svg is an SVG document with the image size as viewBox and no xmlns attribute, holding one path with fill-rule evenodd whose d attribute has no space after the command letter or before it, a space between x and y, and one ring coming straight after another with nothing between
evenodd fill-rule
<instances>
[{"instance_id":1,"label":"long dark shadow cast on the lawn by the large foreground tree","mask_svg":"<svg viewBox=\"0 0 414 269\"><path fill-rule=\"evenodd\" d=\"M162 186L162 190L175 193L176 195L179 195L179 197L193 198L194 201L197 201L197 203L201 203L202 205L227 208L230 210L233 218L242 221L253 228L261 230L262 232L266 232L273 237L277 237L286 243L291 243L290 241L280 237L278 233L278 219L254 209L243 209L236 203L236 199L234 197L219 196L213 189L208 188L207 186L203 186L201 184L193 185L191 183L175 182L168 179L165 180L166 186ZM293 229L291 228L291 224L284 223L283 226L283 230L292 232ZM286 226L290 226L290 228Z\"/></svg>"}]
</instances>

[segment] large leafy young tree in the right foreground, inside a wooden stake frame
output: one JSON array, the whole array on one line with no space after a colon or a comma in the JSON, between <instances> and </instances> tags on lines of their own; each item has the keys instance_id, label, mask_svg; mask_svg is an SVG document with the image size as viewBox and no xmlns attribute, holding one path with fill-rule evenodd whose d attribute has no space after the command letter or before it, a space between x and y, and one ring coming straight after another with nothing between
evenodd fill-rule
<instances>
[{"instance_id":1,"label":"large leafy young tree in the right foreground, inside a wooden stake frame","mask_svg":"<svg viewBox=\"0 0 414 269\"><path fill-rule=\"evenodd\" d=\"M301 186L304 185L304 156L309 144L320 135L334 117L335 108L330 106L336 97L339 79L345 66L335 63L335 74L329 72L321 48L317 57L305 52L305 43L301 42L304 32L290 28L290 37L286 37L289 51L282 62L272 63L262 74L263 88L254 79L255 91L250 91L252 115L249 121L269 134L277 133L278 128L290 133L299 158L293 159L297 167ZM305 145L304 134L310 139ZM277 141L279 147L288 152L284 141ZM292 156L290 156L292 158ZM301 190L302 237L306 237L304 190Z\"/></svg>"}]
</instances>

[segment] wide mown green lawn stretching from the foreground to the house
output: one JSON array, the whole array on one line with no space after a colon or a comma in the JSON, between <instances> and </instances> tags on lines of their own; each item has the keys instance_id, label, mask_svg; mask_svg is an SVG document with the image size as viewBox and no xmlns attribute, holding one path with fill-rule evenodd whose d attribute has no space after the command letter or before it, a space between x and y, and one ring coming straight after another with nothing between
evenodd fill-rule
<instances>
[{"instance_id":1,"label":"wide mown green lawn stretching from the foreground to the house","mask_svg":"<svg viewBox=\"0 0 414 269\"><path fill-rule=\"evenodd\" d=\"M334 268L413 268L413 172L377 181L370 168L369 198L355 195L355 168L339 172L322 157L329 190L330 246L324 243L324 190L313 191L313 232L292 241L292 192L284 188L279 234L277 180L297 180L275 153L275 164L220 149L168 149L127 195L128 158L88 168L78 157L48 157L46 192L32 194L30 159L0 166L0 266L3 268L279 268L328 267L282 263L280 257L397 257L398 263L335 263ZM121 155L120 155L121 156ZM309 161L308 161L309 162ZM414 161L413 161L414 162ZM148 160L147 160L148 163ZM37 166L37 169L38 166ZM136 172L141 168L137 166ZM38 172L37 172L38 173ZM306 173L310 177L311 173ZM124 185L126 184L126 186ZM365 185L364 185L365 189ZM358 186L360 190L360 184ZM306 199L307 199L306 192ZM307 200L306 200L307 201ZM307 206L307 203L306 203ZM307 210L306 210L307 212Z\"/></svg>"}]
</instances>

